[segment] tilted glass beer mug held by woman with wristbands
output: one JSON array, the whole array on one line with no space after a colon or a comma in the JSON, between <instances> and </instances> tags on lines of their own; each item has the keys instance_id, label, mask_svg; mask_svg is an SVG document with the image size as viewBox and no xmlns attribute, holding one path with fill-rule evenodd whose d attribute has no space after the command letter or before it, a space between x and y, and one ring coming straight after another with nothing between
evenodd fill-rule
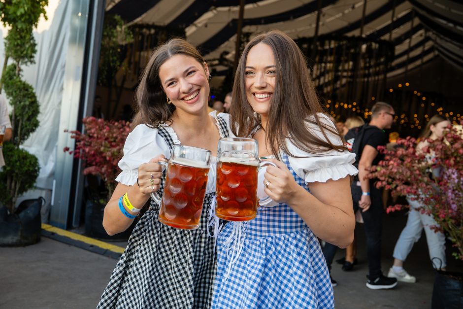
<instances>
[{"instance_id":1,"label":"tilted glass beer mug held by woman with wristbands","mask_svg":"<svg viewBox=\"0 0 463 309\"><path fill-rule=\"evenodd\" d=\"M159 221L179 229L197 229L206 193L211 152L174 145L169 161L158 163L167 169L163 198L157 192L151 193L153 200L161 205Z\"/></svg>"}]
</instances>

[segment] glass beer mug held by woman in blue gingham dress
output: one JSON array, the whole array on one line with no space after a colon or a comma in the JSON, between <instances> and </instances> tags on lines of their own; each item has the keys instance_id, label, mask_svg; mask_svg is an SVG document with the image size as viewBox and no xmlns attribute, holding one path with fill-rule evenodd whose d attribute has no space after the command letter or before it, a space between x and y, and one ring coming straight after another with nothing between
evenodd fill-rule
<instances>
[{"instance_id":1,"label":"glass beer mug held by woman in blue gingham dress","mask_svg":"<svg viewBox=\"0 0 463 309\"><path fill-rule=\"evenodd\" d=\"M247 221L257 215L257 174L265 165L260 161L259 146L253 138L219 139L217 148L217 217L228 221ZM267 197L261 200L266 203Z\"/></svg>"}]
</instances>

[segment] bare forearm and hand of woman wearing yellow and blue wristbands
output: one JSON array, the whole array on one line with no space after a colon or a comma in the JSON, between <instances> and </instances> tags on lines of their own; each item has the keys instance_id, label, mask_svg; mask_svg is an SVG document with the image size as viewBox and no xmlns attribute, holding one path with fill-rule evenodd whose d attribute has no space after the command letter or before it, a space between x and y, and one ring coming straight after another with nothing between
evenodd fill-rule
<instances>
[{"instance_id":1,"label":"bare forearm and hand of woman wearing yellow and blue wristbands","mask_svg":"<svg viewBox=\"0 0 463 309\"><path fill-rule=\"evenodd\" d=\"M164 161L164 155L159 155L150 162L140 165L138 168L138 184L127 186L119 183L114 190L111 199L104 207L103 228L108 235L124 232L132 224L133 219L125 216L119 208L119 199L127 192L130 203L135 208L141 208L148 201L150 194L156 192L161 184L162 166L158 161ZM153 175L153 186L151 185L151 175ZM139 185L139 186L138 186ZM153 189L151 189L153 187ZM132 215L132 212L123 202L125 210Z\"/></svg>"}]
</instances>

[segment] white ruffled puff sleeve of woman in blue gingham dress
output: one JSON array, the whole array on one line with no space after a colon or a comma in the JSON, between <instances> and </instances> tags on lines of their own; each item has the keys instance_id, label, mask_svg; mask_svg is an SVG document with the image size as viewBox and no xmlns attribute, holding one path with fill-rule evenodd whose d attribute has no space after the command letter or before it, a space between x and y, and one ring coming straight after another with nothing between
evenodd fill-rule
<instances>
[{"instance_id":1,"label":"white ruffled puff sleeve of woman in blue gingham dress","mask_svg":"<svg viewBox=\"0 0 463 309\"><path fill-rule=\"evenodd\" d=\"M312 116L313 117L313 116ZM336 130L331 119L322 113L318 114L320 121ZM308 130L322 139L326 139L321 129L311 123L307 123ZM339 136L325 132L333 145L342 145ZM296 147L290 139L287 139L288 150L297 157L288 156L289 163L299 177L309 182L327 182L329 179L337 180L347 175L356 175L359 171L352 165L355 162L355 154L345 150L339 152L330 150L321 154L307 153Z\"/></svg>"}]
</instances>

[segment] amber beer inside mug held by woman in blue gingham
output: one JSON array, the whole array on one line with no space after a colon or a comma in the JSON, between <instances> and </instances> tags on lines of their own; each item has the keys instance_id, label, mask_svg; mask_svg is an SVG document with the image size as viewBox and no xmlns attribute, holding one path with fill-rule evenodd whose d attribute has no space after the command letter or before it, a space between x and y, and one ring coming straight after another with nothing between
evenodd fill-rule
<instances>
[{"instance_id":1,"label":"amber beer inside mug held by woman in blue gingham","mask_svg":"<svg viewBox=\"0 0 463 309\"><path fill-rule=\"evenodd\" d=\"M220 158L217 166L216 215L246 221L257 214L257 159Z\"/></svg>"}]
</instances>

